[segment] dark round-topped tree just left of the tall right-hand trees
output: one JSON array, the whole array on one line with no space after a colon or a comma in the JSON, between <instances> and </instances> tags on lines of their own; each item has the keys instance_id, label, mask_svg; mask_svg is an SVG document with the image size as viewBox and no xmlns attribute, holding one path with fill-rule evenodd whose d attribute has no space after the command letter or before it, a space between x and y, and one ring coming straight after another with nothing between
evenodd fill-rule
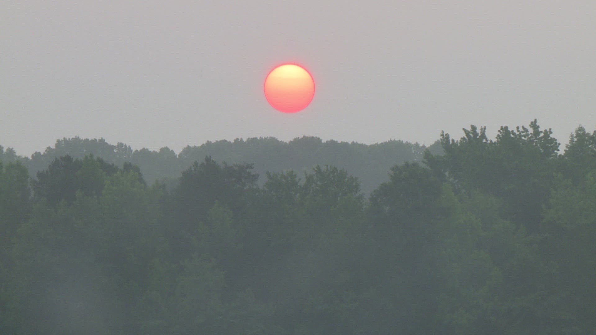
<instances>
[{"instance_id":1,"label":"dark round-topped tree just left of the tall right-hand trees","mask_svg":"<svg viewBox=\"0 0 596 335\"><path fill-rule=\"evenodd\" d=\"M375 291L367 310L370 324L408 334L439 331L434 317L441 291L437 200L442 181L417 164L395 167L389 182L370 199L371 232L377 248L369 253L367 273ZM374 279L373 279L374 278ZM374 331L370 329L369 331Z\"/></svg>"}]
</instances>

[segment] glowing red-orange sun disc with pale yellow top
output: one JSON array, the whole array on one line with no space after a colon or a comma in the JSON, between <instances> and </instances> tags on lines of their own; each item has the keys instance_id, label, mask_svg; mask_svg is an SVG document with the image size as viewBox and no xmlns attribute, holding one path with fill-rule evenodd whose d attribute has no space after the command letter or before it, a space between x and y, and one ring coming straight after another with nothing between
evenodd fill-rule
<instances>
[{"instance_id":1,"label":"glowing red-orange sun disc with pale yellow top","mask_svg":"<svg viewBox=\"0 0 596 335\"><path fill-rule=\"evenodd\" d=\"M284 64L269 72L265 79L265 98L284 113L296 113L308 106L315 96L311 73L295 64Z\"/></svg>"}]
</instances>

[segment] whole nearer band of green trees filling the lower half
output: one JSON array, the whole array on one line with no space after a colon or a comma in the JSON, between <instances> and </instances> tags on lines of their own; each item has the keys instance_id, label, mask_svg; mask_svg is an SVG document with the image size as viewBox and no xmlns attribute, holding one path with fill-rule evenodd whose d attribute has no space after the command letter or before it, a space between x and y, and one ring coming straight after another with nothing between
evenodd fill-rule
<instances>
[{"instance_id":1,"label":"whole nearer band of green trees filling the lower half","mask_svg":"<svg viewBox=\"0 0 596 335\"><path fill-rule=\"evenodd\" d=\"M0 167L7 334L594 334L596 131L470 126L366 196L204 157ZM4 152L5 154L5 152Z\"/></svg>"}]
</instances>

